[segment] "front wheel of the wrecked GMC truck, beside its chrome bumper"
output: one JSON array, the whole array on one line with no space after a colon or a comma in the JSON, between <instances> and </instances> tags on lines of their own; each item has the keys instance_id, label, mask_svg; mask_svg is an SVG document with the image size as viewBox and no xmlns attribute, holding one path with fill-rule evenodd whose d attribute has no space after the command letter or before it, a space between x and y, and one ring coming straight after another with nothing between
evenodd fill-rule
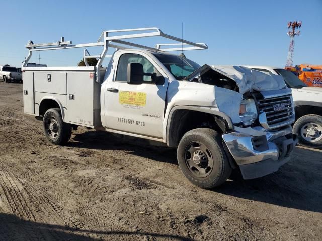
<instances>
[{"instance_id":1,"label":"front wheel of the wrecked GMC truck, beside its chrome bumper","mask_svg":"<svg viewBox=\"0 0 322 241\"><path fill-rule=\"evenodd\" d=\"M190 151L191 148L193 152ZM200 156L198 148L207 159L203 165L201 165L200 160L203 160L204 157ZM215 130L209 128L197 128L188 131L179 143L177 159L183 174L190 182L201 188L209 189L219 186L231 174L231 167L222 147L221 136ZM196 162L199 161L199 164L195 160L197 160ZM193 165L190 166L190 163Z\"/></svg>"}]
</instances>

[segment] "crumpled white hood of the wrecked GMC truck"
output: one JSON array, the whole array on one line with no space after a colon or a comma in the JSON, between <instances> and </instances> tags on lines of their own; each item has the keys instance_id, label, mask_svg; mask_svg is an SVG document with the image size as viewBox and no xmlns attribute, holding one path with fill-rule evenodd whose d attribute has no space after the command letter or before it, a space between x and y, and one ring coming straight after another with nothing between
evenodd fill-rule
<instances>
[{"instance_id":1,"label":"crumpled white hood of the wrecked GMC truck","mask_svg":"<svg viewBox=\"0 0 322 241\"><path fill-rule=\"evenodd\" d=\"M244 94L249 90L256 91L268 91L279 90L284 88L284 79L273 73L263 73L257 70L253 70L244 66L237 65L203 65L191 75L187 76L186 80L192 80L198 74L202 75L210 69L226 76L229 79L234 80L239 88L239 92Z\"/></svg>"}]
</instances>

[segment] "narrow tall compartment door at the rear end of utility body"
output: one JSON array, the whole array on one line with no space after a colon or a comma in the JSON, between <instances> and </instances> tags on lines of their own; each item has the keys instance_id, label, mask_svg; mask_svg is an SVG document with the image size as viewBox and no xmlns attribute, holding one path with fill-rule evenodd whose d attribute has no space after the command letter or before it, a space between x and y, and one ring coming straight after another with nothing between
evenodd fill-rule
<instances>
[{"instance_id":1,"label":"narrow tall compartment door at the rear end of utility body","mask_svg":"<svg viewBox=\"0 0 322 241\"><path fill-rule=\"evenodd\" d=\"M23 73L23 96L24 96L24 112L27 114L35 114L34 99L34 73L26 71Z\"/></svg>"}]
</instances>

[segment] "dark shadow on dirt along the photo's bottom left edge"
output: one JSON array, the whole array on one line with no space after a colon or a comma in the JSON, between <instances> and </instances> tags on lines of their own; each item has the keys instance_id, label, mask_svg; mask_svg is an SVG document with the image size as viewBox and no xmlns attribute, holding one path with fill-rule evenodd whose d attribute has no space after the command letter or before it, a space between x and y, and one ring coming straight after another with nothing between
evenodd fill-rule
<instances>
[{"instance_id":1,"label":"dark shadow on dirt along the photo's bottom left edge","mask_svg":"<svg viewBox=\"0 0 322 241\"><path fill-rule=\"evenodd\" d=\"M100 231L76 229L61 225L46 224L34 221L23 220L12 214L0 213L0 239L1 240L132 240L148 236L153 240L191 240L190 238L173 235L148 232L130 231Z\"/></svg>"}]
</instances>

